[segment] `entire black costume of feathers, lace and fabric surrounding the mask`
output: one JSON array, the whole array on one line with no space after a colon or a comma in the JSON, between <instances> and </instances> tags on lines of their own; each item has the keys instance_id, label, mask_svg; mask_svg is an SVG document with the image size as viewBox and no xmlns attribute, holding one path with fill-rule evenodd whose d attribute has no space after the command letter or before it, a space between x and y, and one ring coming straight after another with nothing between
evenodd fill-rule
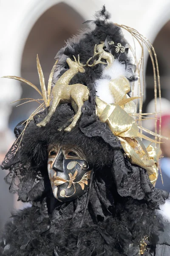
<instances>
[{"instance_id":1,"label":"entire black costume of feathers, lace and fabric surrounding the mask","mask_svg":"<svg viewBox=\"0 0 170 256\"><path fill-rule=\"evenodd\" d=\"M94 45L107 38L122 45L126 41L119 27L108 22L103 7L97 13L94 30L85 32L76 43L59 51L54 81L67 70L66 58L79 54L82 63L93 55ZM132 70L127 51L115 58ZM170 255L169 224L164 224L156 212L169 198L167 192L153 187L145 169L130 163L118 137L108 125L99 121L95 113L95 79L99 79L102 64L85 67L71 81L90 90L90 99L84 103L82 116L70 132L61 127L74 116L71 104L57 107L50 122L37 127L48 109L34 116L20 138L11 147L2 163L9 169L5 178L9 191L17 192L19 200L30 202L31 207L14 212L3 230L1 255L12 256L139 256L144 237L147 244L144 256ZM14 130L19 137L23 122ZM61 203L54 198L47 172L49 144L76 145L94 166L91 186L74 201Z\"/></svg>"}]
</instances>

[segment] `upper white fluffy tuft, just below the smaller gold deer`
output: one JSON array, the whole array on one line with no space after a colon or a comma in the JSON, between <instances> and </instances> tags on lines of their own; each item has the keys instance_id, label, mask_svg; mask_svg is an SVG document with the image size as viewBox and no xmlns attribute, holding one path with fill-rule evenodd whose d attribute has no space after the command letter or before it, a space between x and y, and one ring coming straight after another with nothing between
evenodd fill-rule
<instances>
[{"instance_id":1,"label":"upper white fluffy tuft, just below the smaller gold deer","mask_svg":"<svg viewBox=\"0 0 170 256\"><path fill-rule=\"evenodd\" d=\"M113 65L110 68L105 68L102 72L104 76L110 76L111 79L116 79L119 76L126 76L127 78L132 76L132 72L130 69L127 68L125 69L125 63L124 62L119 62L118 59L115 59L113 61Z\"/></svg>"}]
</instances>

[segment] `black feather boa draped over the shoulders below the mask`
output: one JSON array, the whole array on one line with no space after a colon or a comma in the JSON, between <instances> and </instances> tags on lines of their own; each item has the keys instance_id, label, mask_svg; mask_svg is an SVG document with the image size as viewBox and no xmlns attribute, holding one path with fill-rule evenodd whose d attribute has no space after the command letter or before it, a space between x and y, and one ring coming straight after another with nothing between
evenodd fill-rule
<instances>
[{"instance_id":1,"label":"black feather boa draped over the shoulders below the mask","mask_svg":"<svg viewBox=\"0 0 170 256\"><path fill-rule=\"evenodd\" d=\"M65 204L49 194L42 202L44 208L47 203L47 215L38 206L15 212L5 226L1 253L4 250L3 255L12 256L137 255L144 236L161 232L161 216L145 199L119 196L111 173L107 172L105 177L100 172L94 177L86 210L87 193Z\"/></svg>"}]
</instances>

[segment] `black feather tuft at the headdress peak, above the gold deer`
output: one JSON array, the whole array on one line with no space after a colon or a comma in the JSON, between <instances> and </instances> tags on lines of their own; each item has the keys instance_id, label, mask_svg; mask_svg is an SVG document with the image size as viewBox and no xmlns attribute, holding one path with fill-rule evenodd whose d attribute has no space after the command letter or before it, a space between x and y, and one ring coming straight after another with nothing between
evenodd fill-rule
<instances>
[{"instance_id":1,"label":"black feather tuft at the headdress peak, above the gold deer","mask_svg":"<svg viewBox=\"0 0 170 256\"><path fill-rule=\"evenodd\" d=\"M61 76L67 69L66 59L71 58L74 60L73 55L80 56L80 62L85 64L86 61L94 55L95 44L100 44L101 41L114 41L115 45L120 43L122 46L126 47L127 41L125 40L122 30L120 27L114 25L112 22L108 21L108 12L103 6L102 10L96 13L96 20L94 20L95 28L93 30L87 30L82 32L76 38L71 38L68 40L67 45L63 47L56 55L58 59L57 69L54 72L53 81L57 81L58 77ZM114 55L115 58L119 58L119 61L126 61L127 64L131 64L131 58L128 52L116 53L115 47L109 48L109 51ZM133 67L129 66L129 70ZM85 73L78 73L71 80L73 83L82 83L89 87L90 83L94 83L95 79L100 79L102 76L102 64L98 64L91 67L85 67Z\"/></svg>"}]
</instances>

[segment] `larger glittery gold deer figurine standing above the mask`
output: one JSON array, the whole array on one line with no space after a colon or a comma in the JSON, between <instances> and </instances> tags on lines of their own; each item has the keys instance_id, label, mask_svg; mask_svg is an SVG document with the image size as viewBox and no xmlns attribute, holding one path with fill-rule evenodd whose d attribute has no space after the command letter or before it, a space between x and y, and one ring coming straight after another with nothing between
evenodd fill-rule
<instances>
[{"instance_id":1,"label":"larger glittery gold deer figurine standing above the mask","mask_svg":"<svg viewBox=\"0 0 170 256\"><path fill-rule=\"evenodd\" d=\"M83 84L69 84L71 79L78 73L85 73L85 69L83 66L88 65L88 62L91 58L87 61L85 65L81 64L79 61L76 60L75 56L74 61L71 58L67 58L67 64L69 69L58 79L56 82L52 94L53 94L53 103L51 105L50 111L45 119L42 120L37 126L45 126L51 119L51 116L55 112L59 103L70 102L73 106L74 110L77 110L77 113L73 117L73 121L71 125L65 128L65 131L71 131L72 128L76 125L80 115L81 115L81 108L83 103L88 100L89 98L89 90L88 87Z\"/></svg>"}]
</instances>

